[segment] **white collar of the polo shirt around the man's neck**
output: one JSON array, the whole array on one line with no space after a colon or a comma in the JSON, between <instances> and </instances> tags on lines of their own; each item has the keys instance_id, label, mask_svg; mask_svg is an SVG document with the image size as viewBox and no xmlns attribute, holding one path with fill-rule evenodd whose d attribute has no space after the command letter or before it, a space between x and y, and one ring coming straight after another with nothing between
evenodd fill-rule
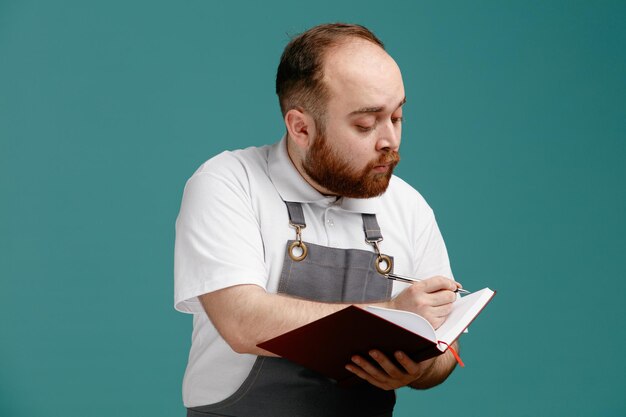
<instances>
[{"instance_id":1,"label":"white collar of the polo shirt around the man's neck","mask_svg":"<svg viewBox=\"0 0 626 417\"><path fill-rule=\"evenodd\" d=\"M300 175L287 153L287 137L275 143L269 152L268 170L270 180L283 201L336 206L355 213L377 213L380 197L348 198L325 196Z\"/></svg>"}]
</instances>

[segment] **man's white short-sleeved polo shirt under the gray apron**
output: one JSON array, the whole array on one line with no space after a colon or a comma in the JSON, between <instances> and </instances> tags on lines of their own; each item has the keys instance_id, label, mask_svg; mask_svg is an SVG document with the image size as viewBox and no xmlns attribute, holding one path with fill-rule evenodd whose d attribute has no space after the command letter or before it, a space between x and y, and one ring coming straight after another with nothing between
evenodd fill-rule
<instances>
[{"instance_id":1,"label":"man's white short-sleeved polo shirt under the gray apron","mask_svg":"<svg viewBox=\"0 0 626 417\"><path fill-rule=\"evenodd\" d=\"M183 380L186 407L221 401L243 383L256 356L238 354L218 334L198 296L254 284L275 293L286 242L295 238L284 201L304 203L302 239L318 245L373 251L361 213L375 213L394 257L394 272L452 278L445 244L422 196L393 176L380 197L326 197L299 174L286 139L260 148L223 152L187 181L176 220L175 308L193 313L193 337ZM394 282L393 295L406 287Z\"/></svg>"}]
</instances>

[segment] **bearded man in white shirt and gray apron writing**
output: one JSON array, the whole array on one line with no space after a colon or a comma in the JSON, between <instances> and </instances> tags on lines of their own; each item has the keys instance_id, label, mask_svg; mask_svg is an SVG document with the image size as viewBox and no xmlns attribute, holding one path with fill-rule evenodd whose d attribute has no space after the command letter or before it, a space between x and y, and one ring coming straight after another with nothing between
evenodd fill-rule
<instances>
[{"instance_id":1,"label":"bearded man in white shirt and gray apron writing","mask_svg":"<svg viewBox=\"0 0 626 417\"><path fill-rule=\"evenodd\" d=\"M389 416L395 388L446 379L449 351L420 363L354 356L346 368L365 382L346 389L257 344L350 304L413 311L434 327L449 314L460 284L432 210L392 176L400 70L366 28L321 25L287 45L276 91L285 137L224 152L185 187L175 303L194 314L188 416ZM422 281L392 282L390 268Z\"/></svg>"}]
</instances>

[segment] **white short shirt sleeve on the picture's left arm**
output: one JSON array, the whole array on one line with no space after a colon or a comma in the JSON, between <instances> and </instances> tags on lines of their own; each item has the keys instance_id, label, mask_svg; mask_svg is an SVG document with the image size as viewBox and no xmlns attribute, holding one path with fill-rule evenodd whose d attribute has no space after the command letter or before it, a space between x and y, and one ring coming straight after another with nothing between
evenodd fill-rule
<instances>
[{"instance_id":1,"label":"white short shirt sleeve on the picture's left arm","mask_svg":"<svg viewBox=\"0 0 626 417\"><path fill-rule=\"evenodd\" d=\"M267 284L248 177L241 166L222 165L200 169L183 192L174 249L174 307L181 312L203 312L202 294Z\"/></svg>"}]
</instances>

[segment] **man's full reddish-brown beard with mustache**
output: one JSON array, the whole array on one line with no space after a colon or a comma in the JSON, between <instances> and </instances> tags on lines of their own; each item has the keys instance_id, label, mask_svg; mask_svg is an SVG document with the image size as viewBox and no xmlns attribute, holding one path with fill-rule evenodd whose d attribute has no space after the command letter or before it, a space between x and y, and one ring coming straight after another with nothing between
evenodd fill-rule
<instances>
[{"instance_id":1,"label":"man's full reddish-brown beard with mustache","mask_svg":"<svg viewBox=\"0 0 626 417\"><path fill-rule=\"evenodd\" d=\"M370 198L381 195L389 186L393 169L400 162L400 154L388 151L372 161L361 172L349 166L331 149L324 133L311 145L302 167L311 179L333 194L351 198ZM374 172L380 165L390 164L385 172Z\"/></svg>"}]
</instances>

